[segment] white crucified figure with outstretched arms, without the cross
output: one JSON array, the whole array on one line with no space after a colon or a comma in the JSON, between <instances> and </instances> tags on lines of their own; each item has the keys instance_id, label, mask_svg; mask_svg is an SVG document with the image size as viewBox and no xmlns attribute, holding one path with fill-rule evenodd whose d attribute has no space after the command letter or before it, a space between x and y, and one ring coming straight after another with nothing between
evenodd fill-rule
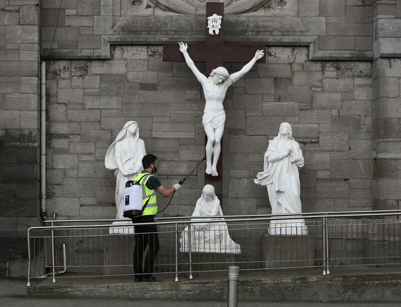
<instances>
[{"instance_id":1,"label":"white crucified figure with outstretched arms, without the cross","mask_svg":"<svg viewBox=\"0 0 401 307\"><path fill-rule=\"evenodd\" d=\"M258 50L252 60L246 64L239 72L229 75L224 67L218 67L212 71L207 78L200 73L187 53L188 46L182 42L179 44L179 51L182 52L185 62L195 75L197 81L202 85L205 95L205 110L202 118L208 143L206 144L206 173L212 176L218 176L217 162L219 161L221 151L221 140L226 121L226 112L223 107L223 100L227 89L234 82L239 80L249 72L259 59L263 57L263 51ZM213 154L213 163L212 163Z\"/></svg>"}]
</instances>

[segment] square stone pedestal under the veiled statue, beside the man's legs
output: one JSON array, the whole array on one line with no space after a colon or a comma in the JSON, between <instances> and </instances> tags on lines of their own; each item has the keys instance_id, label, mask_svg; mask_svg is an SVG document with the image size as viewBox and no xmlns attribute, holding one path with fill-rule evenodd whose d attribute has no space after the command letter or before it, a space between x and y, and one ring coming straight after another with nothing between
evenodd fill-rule
<instances>
[{"instance_id":1,"label":"square stone pedestal under the veiled statue, beside the man's legs","mask_svg":"<svg viewBox=\"0 0 401 307\"><path fill-rule=\"evenodd\" d=\"M133 274L133 253L133 234L111 234L104 236L104 275Z\"/></svg>"}]
</instances>

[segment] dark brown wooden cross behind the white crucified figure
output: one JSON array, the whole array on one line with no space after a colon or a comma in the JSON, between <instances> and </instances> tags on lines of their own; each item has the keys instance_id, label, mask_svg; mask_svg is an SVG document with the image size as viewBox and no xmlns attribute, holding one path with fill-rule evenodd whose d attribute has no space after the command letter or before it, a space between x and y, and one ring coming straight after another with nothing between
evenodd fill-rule
<instances>
[{"instance_id":1,"label":"dark brown wooden cross behind the white crucified figure","mask_svg":"<svg viewBox=\"0 0 401 307\"><path fill-rule=\"evenodd\" d=\"M219 34L210 35L208 26L208 17L216 14L222 16L221 29ZM188 44L188 54L193 62L206 62L206 76L208 77L212 70L219 66L223 66L224 62L243 62L248 63L255 56L255 52L265 50L266 45L239 45L224 44L224 3L207 3L206 4L206 44ZM178 49L178 44L163 44L163 61L184 62L184 56ZM258 62L266 63L266 53ZM207 136L205 135L205 146ZM219 176L205 174L205 184L212 184L215 187L216 195L222 204L223 192L223 142L221 143L222 151L217 163L217 171Z\"/></svg>"}]
</instances>

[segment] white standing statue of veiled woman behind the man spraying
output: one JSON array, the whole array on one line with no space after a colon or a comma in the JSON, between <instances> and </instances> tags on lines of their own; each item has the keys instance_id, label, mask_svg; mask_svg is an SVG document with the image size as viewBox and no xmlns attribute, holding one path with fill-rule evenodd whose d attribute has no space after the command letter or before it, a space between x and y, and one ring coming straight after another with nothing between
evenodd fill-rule
<instances>
[{"instance_id":1,"label":"white standing statue of veiled woman behind the man spraying","mask_svg":"<svg viewBox=\"0 0 401 307\"><path fill-rule=\"evenodd\" d=\"M145 143L139 138L138 124L126 122L116 140L107 150L104 164L116 176L116 218L123 217L125 182L133 180L142 171L142 158L146 155Z\"/></svg>"}]
</instances>

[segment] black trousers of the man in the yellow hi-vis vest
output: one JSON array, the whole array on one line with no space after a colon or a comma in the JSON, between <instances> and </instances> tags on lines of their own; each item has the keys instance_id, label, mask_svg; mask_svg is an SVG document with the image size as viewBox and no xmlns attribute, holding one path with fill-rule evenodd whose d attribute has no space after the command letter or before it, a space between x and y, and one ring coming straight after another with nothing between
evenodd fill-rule
<instances>
[{"instance_id":1,"label":"black trousers of the man in the yellow hi-vis vest","mask_svg":"<svg viewBox=\"0 0 401 307\"><path fill-rule=\"evenodd\" d=\"M154 223L153 215L142 215L132 218L133 223ZM153 263L159 251L159 237L157 226L136 225L135 228L135 247L134 247L134 274L138 277L149 277L153 273ZM143 256L145 249L148 250L145 256L145 263L142 269Z\"/></svg>"}]
</instances>

